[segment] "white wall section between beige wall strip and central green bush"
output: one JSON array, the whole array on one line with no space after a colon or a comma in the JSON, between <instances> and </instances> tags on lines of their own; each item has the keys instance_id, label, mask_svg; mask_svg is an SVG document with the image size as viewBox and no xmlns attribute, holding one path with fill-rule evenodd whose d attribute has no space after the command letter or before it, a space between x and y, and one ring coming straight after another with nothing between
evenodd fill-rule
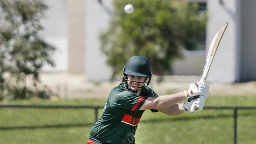
<instances>
[{"instance_id":1,"label":"white wall section between beige wall strip and central green bush","mask_svg":"<svg viewBox=\"0 0 256 144\"><path fill-rule=\"evenodd\" d=\"M86 0L85 3L85 74L87 80L108 80L111 70L100 51L100 32L107 30L113 18L113 0Z\"/></svg>"}]
</instances>

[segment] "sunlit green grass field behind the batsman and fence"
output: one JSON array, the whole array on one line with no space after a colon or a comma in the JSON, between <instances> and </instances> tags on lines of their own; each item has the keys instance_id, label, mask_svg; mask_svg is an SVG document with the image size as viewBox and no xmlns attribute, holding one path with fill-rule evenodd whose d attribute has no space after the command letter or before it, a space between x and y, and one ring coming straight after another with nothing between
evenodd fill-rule
<instances>
[{"instance_id":1,"label":"sunlit green grass field behind the batsman and fence","mask_svg":"<svg viewBox=\"0 0 256 144\"><path fill-rule=\"evenodd\" d=\"M255 106L256 96L208 96L205 106ZM100 105L106 99L20 100L0 105ZM99 115L102 109L99 109ZM95 122L94 109L0 109L1 144L84 144ZM145 111L136 144L232 144L234 110L203 110L167 116ZM256 143L256 110L238 110L237 142Z\"/></svg>"}]
</instances>

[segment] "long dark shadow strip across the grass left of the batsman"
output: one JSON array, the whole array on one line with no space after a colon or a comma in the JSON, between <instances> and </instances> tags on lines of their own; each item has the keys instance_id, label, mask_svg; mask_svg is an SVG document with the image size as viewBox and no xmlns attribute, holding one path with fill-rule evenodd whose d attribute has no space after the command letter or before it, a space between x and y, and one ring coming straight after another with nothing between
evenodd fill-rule
<instances>
[{"instance_id":1,"label":"long dark shadow strip across the grass left of the batsman","mask_svg":"<svg viewBox=\"0 0 256 144\"><path fill-rule=\"evenodd\" d=\"M43 125L43 126L7 126L0 127L2 130L17 130L17 129L47 129L47 128L69 128L69 127L87 127L93 126L93 123L88 124L56 124L56 125Z\"/></svg>"}]
</instances>

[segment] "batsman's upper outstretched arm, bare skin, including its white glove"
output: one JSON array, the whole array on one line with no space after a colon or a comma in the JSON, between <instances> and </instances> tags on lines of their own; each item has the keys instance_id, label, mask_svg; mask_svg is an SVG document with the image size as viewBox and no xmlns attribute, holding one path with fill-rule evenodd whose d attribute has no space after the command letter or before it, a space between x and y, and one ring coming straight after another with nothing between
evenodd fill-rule
<instances>
[{"instance_id":1,"label":"batsman's upper outstretched arm, bare skin, including its white glove","mask_svg":"<svg viewBox=\"0 0 256 144\"><path fill-rule=\"evenodd\" d=\"M190 97L196 95L207 95L208 89L209 87L206 83L192 83L189 85L189 89L185 90L184 92L158 96L155 98L148 97L141 106L140 110L168 108L182 100L185 100L186 98L189 99Z\"/></svg>"}]
</instances>

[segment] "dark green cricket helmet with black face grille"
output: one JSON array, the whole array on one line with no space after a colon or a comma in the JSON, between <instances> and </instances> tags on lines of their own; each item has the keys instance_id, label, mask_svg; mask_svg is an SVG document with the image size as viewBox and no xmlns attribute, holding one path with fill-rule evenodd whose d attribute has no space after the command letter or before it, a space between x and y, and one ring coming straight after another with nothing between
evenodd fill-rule
<instances>
[{"instance_id":1,"label":"dark green cricket helmet with black face grille","mask_svg":"<svg viewBox=\"0 0 256 144\"><path fill-rule=\"evenodd\" d=\"M144 83L143 86L145 85L148 86L152 77L152 72L150 70L150 64L148 59L142 56L133 56L127 61L122 74L122 82L123 82L123 85L126 87L126 89L128 89L129 87L127 83L128 81L127 75L146 78L145 82L137 82L137 83ZM137 86L133 86L133 87L137 87ZM142 87L137 87L137 88L138 88L137 91L142 89Z\"/></svg>"}]
</instances>

